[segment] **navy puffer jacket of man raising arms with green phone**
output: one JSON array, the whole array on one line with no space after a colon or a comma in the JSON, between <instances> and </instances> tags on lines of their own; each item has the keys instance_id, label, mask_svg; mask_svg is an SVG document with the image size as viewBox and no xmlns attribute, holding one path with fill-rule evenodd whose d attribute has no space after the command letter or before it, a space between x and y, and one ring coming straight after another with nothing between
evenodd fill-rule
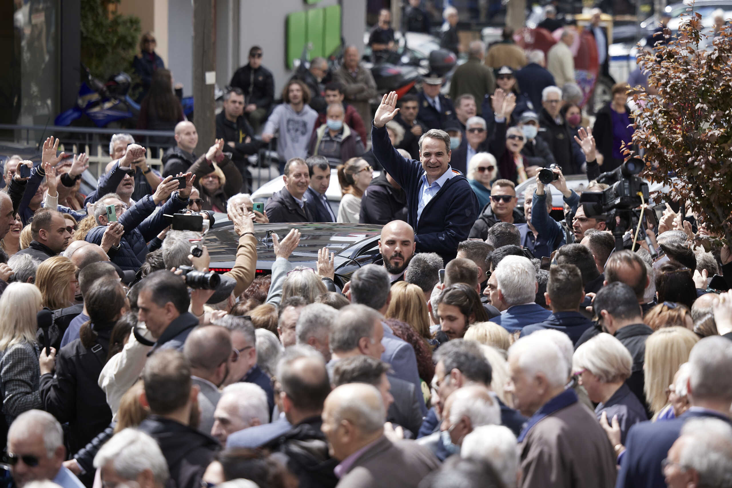
<instances>
[{"instance_id":1,"label":"navy puffer jacket of man raising arms with green phone","mask_svg":"<svg viewBox=\"0 0 732 488\"><path fill-rule=\"evenodd\" d=\"M151 241L164 228L168 227L168 221L164 215L175 214L188 205L188 198L179 198L179 192L173 192L171 198L163 206L155 211L155 203L151 195L146 195L138 203L135 203L130 210L119 217L119 223L124 226L124 235L119 241L121 247L114 253L110 251L110 258L113 263L124 271L137 271L145 262L148 253L147 242ZM153 212L155 212L153 214ZM151 215L152 214L152 215ZM102 244L102 236L107 229L105 225L89 230L86 234L86 241L94 244Z\"/></svg>"}]
</instances>

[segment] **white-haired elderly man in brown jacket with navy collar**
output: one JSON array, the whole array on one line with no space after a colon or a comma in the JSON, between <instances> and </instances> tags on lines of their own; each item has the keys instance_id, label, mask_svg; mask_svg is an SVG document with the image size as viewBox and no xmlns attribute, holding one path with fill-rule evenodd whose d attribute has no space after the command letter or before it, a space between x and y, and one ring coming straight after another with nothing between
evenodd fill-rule
<instances>
[{"instance_id":1,"label":"white-haired elderly man in brown jacket with navy collar","mask_svg":"<svg viewBox=\"0 0 732 488\"><path fill-rule=\"evenodd\" d=\"M505 391L529 416L518 437L521 486L615 486L613 447L594 414L567 383L569 364L559 347L538 337L522 337L509 348Z\"/></svg>"}]
</instances>

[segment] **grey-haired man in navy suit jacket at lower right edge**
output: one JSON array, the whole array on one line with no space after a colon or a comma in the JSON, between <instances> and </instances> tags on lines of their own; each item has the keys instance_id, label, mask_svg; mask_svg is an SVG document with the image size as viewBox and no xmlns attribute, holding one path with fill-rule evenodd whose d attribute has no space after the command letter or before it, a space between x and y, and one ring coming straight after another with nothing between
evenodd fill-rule
<instances>
[{"instance_id":1,"label":"grey-haired man in navy suit jacket at lower right edge","mask_svg":"<svg viewBox=\"0 0 732 488\"><path fill-rule=\"evenodd\" d=\"M719 418L731 423L732 375L729 372L732 371L732 342L724 337L705 337L692 348L689 363L687 398L691 407L679 418L641 422L630 428L616 488L665 487L662 461L667 456L673 457L669 449L689 419ZM621 448L616 446L616 451ZM667 468L672 469L673 466Z\"/></svg>"}]
</instances>

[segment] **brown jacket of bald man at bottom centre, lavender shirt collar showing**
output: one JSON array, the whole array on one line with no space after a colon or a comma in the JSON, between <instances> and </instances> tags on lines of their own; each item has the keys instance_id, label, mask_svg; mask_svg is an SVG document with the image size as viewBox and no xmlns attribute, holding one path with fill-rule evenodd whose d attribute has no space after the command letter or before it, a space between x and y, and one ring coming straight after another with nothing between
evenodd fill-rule
<instances>
[{"instance_id":1,"label":"brown jacket of bald man at bottom centre, lavender shirt collar showing","mask_svg":"<svg viewBox=\"0 0 732 488\"><path fill-rule=\"evenodd\" d=\"M340 488L417 488L440 463L414 440L392 443L385 436L356 458L337 484Z\"/></svg>"}]
</instances>

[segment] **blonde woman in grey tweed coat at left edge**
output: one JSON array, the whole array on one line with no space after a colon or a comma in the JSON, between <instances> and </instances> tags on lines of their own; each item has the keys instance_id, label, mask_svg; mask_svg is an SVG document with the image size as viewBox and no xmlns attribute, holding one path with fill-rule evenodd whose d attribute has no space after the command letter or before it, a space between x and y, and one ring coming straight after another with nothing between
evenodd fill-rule
<instances>
[{"instance_id":1,"label":"blonde woman in grey tweed coat at left edge","mask_svg":"<svg viewBox=\"0 0 732 488\"><path fill-rule=\"evenodd\" d=\"M41 300L30 283L10 283L0 296L0 393L8 425L26 410L43 409L36 342Z\"/></svg>"}]
</instances>

